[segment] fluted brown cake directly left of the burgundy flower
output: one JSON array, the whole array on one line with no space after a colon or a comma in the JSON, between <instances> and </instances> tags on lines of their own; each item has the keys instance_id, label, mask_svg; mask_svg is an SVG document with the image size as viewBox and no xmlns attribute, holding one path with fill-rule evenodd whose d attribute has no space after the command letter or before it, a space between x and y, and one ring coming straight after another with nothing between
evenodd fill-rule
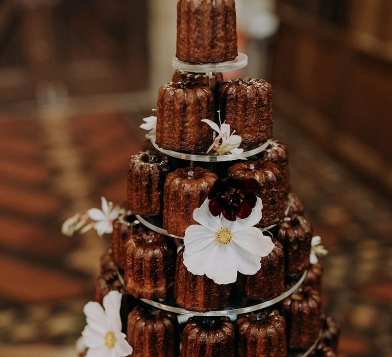
<instances>
[{"instance_id":1,"label":"fluted brown cake directly left of the burgundy flower","mask_svg":"<svg viewBox=\"0 0 392 357\"><path fill-rule=\"evenodd\" d=\"M197 224L193 211L200 207L218 176L201 167L178 168L167 175L163 194L163 227L183 237L186 228Z\"/></svg>"}]
</instances>

